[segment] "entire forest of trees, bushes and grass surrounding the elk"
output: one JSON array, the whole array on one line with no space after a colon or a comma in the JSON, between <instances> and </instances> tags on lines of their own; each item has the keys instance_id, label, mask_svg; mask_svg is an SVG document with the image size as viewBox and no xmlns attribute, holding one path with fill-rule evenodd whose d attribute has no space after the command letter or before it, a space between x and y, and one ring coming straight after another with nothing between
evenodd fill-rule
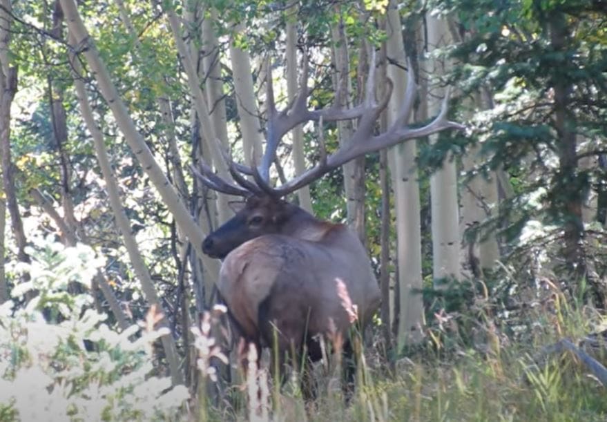
<instances>
[{"instance_id":1,"label":"entire forest of trees, bushes and grass surrounding the elk","mask_svg":"<svg viewBox=\"0 0 607 422\"><path fill-rule=\"evenodd\" d=\"M218 374L201 245L238 198L192 169L260 157L266 81L285 107L306 55L309 108L356 106L376 66L377 133L407 78L412 126L445 97L465 126L289 198L358 233L383 295L356 396L316 368L309 419L604 420L606 21L601 0L0 0L1 419L302 417L297 383ZM271 178L355 128L296 128Z\"/></svg>"}]
</instances>

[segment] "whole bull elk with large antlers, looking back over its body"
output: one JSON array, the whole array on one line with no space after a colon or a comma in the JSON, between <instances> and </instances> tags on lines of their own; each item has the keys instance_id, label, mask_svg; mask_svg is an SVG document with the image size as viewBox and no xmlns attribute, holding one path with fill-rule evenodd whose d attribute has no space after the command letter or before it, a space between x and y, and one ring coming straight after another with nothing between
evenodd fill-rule
<instances>
[{"instance_id":1,"label":"whole bull elk with large antlers, looking back over its body","mask_svg":"<svg viewBox=\"0 0 607 422\"><path fill-rule=\"evenodd\" d=\"M281 198L360 155L446 128L461 128L447 120L446 98L441 113L430 124L407 126L416 93L414 78L410 77L396 121L385 133L374 135L376 120L386 108L393 88L388 80L386 95L376 103L374 57L373 54L365 99L350 109L307 108L305 55L300 92L283 111L276 110L269 76L267 145L260 166L255 162L251 167L236 164L224 153L225 164L238 184L220 178L204 163L200 164L200 171L193 168L210 189L246 198L242 209L204 240L202 249L213 258L223 259L217 287L238 334L247 344L257 347L277 345L281 358L293 350L300 354L307 350L309 359L317 361L321 358L318 335L337 333L347 339L354 318L344 299L356 307L360 327L369 323L380 304L378 283L358 237L344 224L318 220ZM338 90L337 95L342 93ZM322 122L343 119L358 119L356 132L335 153L327 155ZM269 170L280 140L291 128L307 121L319 122L318 164L273 187ZM351 348L345 345L343 350Z\"/></svg>"}]
</instances>

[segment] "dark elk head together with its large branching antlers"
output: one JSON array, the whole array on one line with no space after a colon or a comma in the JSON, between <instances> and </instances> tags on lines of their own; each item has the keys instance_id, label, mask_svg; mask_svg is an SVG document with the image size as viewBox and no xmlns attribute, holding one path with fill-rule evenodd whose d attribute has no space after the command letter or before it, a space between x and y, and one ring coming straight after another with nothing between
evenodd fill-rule
<instances>
[{"instance_id":1,"label":"dark elk head together with its large branching antlers","mask_svg":"<svg viewBox=\"0 0 607 422\"><path fill-rule=\"evenodd\" d=\"M213 258L224 258L235 247L257 236L272 233L288 234L289 230L293 230L292 224L289 224L293 215L309 214L280 198L284 198L289 193L317 180L325 173L354 160L356 157L394 146L405 140L431 135L447 128L463 128L460 124L450 122L446 118L448 93L445 95L441 112L432 122L417 128L408 126L407 122L410 119L416 95L414 77L409 77L405 99L395 122L385 133L374 135L376 121L388 104L389 98L392 95L393 85L392 81L387 79L385 97L377 103L374 86L376 67L374 50L372 50L371 57L365 99L360 105L349 109L338 106L331 106L321 110L309 110L307 108L307 98L309 96L307 88L308 64L307 55L304 55L300 92L287 108L277 111L273 96L271 73L268 72L267 145L260 166L255 164L254 158L253 166L251 167L237 164L231 160L229 153L223 151L220 146L224 164L237 184L220 178L204 162L200 162L200 171L192 167L195 175L209 188L229 195L240 195L247 198L244 201L244 207L231 220L224 223L222 227L211 233L204 240L202 245L204 253ZM412 68L411 64L409 64L409 67ZM346 85L338 84L340 88L336 93L336 98L345 95L345 93L340 92L340 89ZM324 138L322 137L322 124L323 122L335 122L345 119L358 119L354 135L348 142L344 142L335 153L327 155ZM271 186L269 182L269 169L274 160L276 160L276 149L280 140L292 128L307 121L319 122L318 145L320 160L318 164L278 187ZM249 180L247 176L251 176L254 182ZM309 217L311 218L311 215Z\"/></svg>"}]
</instances>

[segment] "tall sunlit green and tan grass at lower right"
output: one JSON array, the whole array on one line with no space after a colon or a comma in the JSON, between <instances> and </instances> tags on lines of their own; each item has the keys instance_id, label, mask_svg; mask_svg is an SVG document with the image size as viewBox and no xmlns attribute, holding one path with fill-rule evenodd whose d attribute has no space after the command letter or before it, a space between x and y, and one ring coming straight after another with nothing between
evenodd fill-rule
<instances>
[{"instance_id":1,"label":"tall sunlit green and tan grass at lower right","mask_svg":"<svg viewBox=\"0 0 607 422\"><path fill-rule=\"evenodd\" d=\"M604 327L605 320L576 300L552 292L549 306L526 314L528 329L505 336L487 314L476 314L474 341L442 328L428 329L426 342L401 356L389 370L374 346L358 349L356 393L345 401L339 371L317 365L318 398L305 405L298 390L282 387L279 403L265 405L259 419L244 409L234 420L273 421L605 421L607 391L570 352L550 352L562 338L579 339ZM521 323L521 321L519 321ZM470 338L468 336L467 338ZM359 343L360 346L360 343ZM604 344L599 347L604 350ZM596 352L596 350L595 350ZM605 363L605 356L595 353ZM256 368L249 392L267 383ZM276 383L276 380L270 382ZM265 387L268 388L267 386ZM266 390L267 391L267 390ZM276 402L277 394L273 395ZM250 409L251 407L249 407Z\"/></svg>"}]
</instances>

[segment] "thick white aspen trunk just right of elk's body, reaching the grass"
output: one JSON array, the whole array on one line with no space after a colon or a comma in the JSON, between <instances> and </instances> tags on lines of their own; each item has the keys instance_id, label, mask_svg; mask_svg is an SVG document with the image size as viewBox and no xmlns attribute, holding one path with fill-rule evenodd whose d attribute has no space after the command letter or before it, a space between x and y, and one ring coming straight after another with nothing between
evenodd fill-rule
<instances>
[{"instance_id":1,"label":"thick white aspen trunk just right of elk's body, reaching the grass","mask_svg":"<svg viewBox=\"0 0 607 422\"><path fill-rule=\"evenodd\" d=\"M387 66L387 75L394 83L392 98L388 104L388 126L394 122L398 109L403 104L407 86L405 46L401 35L401 18L391 1L387 12L387 57L395 64ZM423 302L421 294L421 231L420 202L417 170L415 164L416 141L405 142L389 151L389 168L392 173L396 204L396 238L398 264L399 309L396 346L398 350L405 344L421 341L423 325Z\"/></svg>"}]
</instances>

